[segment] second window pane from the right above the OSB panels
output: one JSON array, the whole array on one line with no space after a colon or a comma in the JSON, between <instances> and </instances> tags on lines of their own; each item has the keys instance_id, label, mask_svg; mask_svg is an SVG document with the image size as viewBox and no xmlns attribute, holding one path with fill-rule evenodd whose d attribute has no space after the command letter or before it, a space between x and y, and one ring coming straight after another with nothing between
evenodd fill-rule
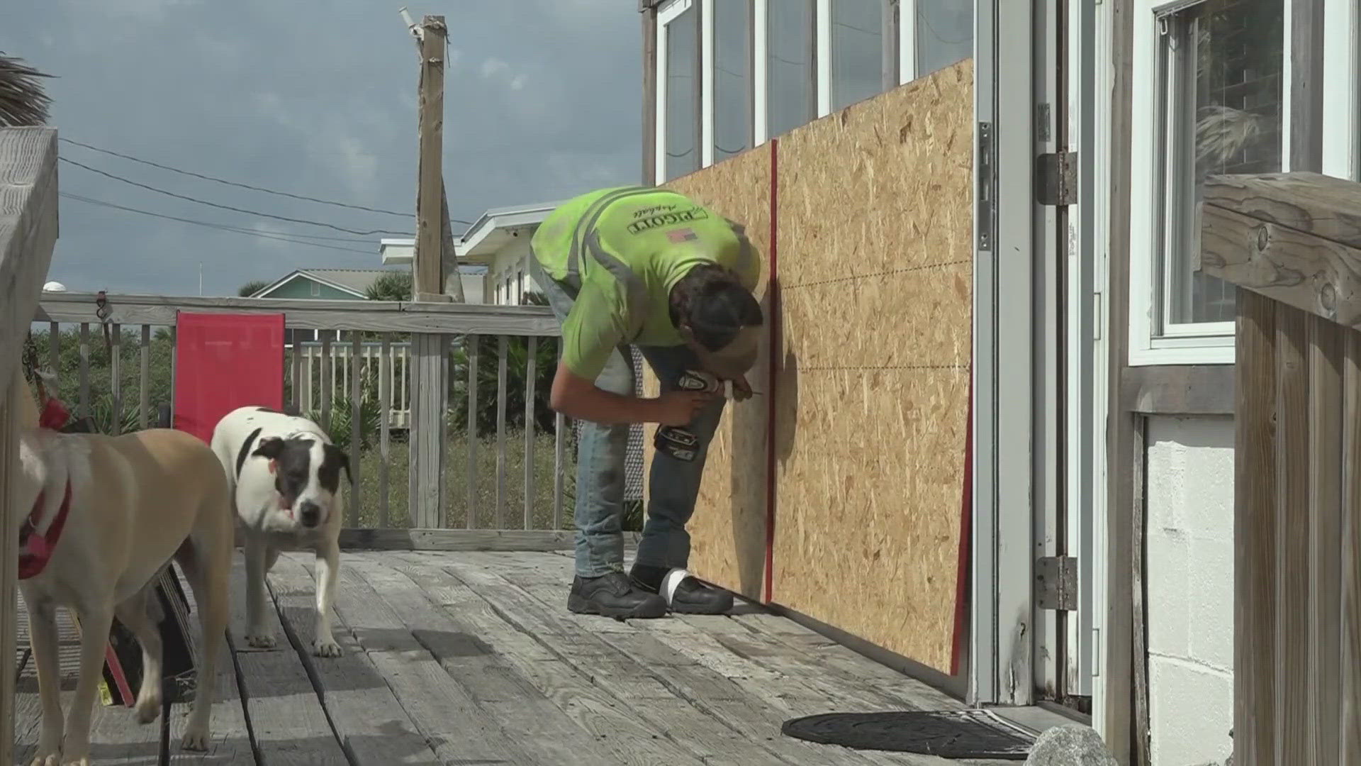
<instances>
[{"instance_id":1,"label":"second window pane from the right above the OSB panels","mask_svg":"<svg viewBox=\"0 0 1361 766\"><path fill-rule=\"evenodd\" d=\"M832 0L830 11L832 109L837 110L883 91L883 1Z\"/></svg>"}]
</instances>

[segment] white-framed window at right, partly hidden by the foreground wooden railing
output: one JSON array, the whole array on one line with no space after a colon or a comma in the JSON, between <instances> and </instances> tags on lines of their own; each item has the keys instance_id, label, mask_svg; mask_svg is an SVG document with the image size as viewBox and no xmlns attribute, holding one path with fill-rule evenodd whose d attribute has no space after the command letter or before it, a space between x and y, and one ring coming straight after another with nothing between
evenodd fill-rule
<instances>
[{"instance_id":1,"label":"white-framed window at right, partly hidden by the foreground wooden railing","mask_svg":"<svg viewBox=\"0 0 1361 766\"><path fill-rule=\"evenodd\" d=\"M1234 290L1196 269L1196 203L1206 176L1282 169L1285 4L1147 10L1134 72L1131 363L1229 363Z\"/></svg>"}]
</instances>

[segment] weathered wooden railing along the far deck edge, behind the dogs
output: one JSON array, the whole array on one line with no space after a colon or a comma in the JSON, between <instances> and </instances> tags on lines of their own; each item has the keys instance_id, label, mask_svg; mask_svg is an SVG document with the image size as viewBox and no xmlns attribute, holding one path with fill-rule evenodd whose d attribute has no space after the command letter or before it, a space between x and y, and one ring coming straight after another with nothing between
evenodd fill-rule
<instances>
[{"instance_id":1,"label":"weathered wooden railing along the far deck edge, behind the dogs","mask_svg":"<svg viewBox=\"0 0 1361 766\"><path fill-rule=\"evenodd\" d=\"M171 403L177 312L284 313L289 328L340 331L339 341L286 349L284 391L289 405L316 416L350 450L347 544L570 542L563 507L574 492L574 450L568 423L546 405L559 346L547 308L129 294L106 301L105 320L95 294L45 293L34 315L46 323L34 338L59 369L63 394L101 429L146 428ZM431 358L444 365L442 391L421 391L422 354L426 373ZM436 402L434 412L422 413L422 401ZM400 412L410 423L393 417ZM445 529L490 532L440 534Z\"/></svg>"}]
</instances>

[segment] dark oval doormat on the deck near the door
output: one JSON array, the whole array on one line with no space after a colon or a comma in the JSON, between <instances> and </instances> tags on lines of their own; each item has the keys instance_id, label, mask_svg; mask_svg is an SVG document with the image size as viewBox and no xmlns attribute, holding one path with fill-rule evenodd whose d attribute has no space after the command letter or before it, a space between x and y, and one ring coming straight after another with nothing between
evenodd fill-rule
<instances>
[{"instance_id":1,"label":"dark oval doormat on the deck near the door","mask_svg":"<svg viewBox=\"0 0 1361 766\"><path fill-rule=\"evenodd\" d=\"M784 722L785 736L852 750L1025 761L1034 736L988 710L822 713Z\"/></svg>"}]
</instances>

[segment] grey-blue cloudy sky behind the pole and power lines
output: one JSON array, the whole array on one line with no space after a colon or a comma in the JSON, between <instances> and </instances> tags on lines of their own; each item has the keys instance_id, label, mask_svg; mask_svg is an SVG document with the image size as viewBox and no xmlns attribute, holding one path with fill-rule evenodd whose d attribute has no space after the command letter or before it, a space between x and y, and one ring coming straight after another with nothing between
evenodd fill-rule
<instances>
[{"instance_id":1,"label":"grey-blue cloudy sky behind the pole and power lines","mask_svg":"<svg viewBox=\"0 0 1361 766\"><path fill-rule=\"evenodd\" d=\"M369 232L414 229L415 44L397 10L449 23L449 214L640 179L641 33L619 0L42 0L15 3L0 50L46 80L60 135L237 183L226 187L61 143L64 158L176 194ZM378 264L378 234L207 207L61 164L61 191L308 247L61 200L50 278L72 290L235 294L298 267ZM461 226L455 224L456 230ZM392 236L392 234L389 234ZM359 251L359 252L351 252Z\"/></svg>"}]
</instances>

